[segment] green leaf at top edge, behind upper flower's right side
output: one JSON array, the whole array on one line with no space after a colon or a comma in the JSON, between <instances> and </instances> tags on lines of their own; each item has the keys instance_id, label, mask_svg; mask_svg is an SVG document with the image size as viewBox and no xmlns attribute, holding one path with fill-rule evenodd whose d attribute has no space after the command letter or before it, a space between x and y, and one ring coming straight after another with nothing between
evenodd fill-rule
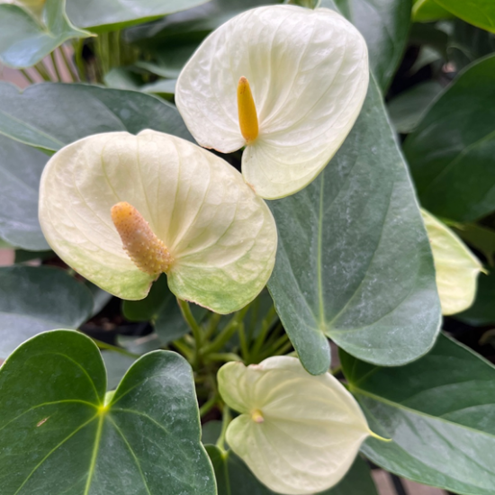
<instances>
[{"instance_id":1,"label":"green leaf at top edge, behind upper flower's right side","mask_svg":"<svg viewBox=\"0 0 495 495\"><path fill-rule=\"evenodd\" d=\"M321 6L326 0L322 0ZM338 8L361 31L370 67L385 90L401 63L408 40L411 0L336 0Z\"/></svg>"}]
</instances>

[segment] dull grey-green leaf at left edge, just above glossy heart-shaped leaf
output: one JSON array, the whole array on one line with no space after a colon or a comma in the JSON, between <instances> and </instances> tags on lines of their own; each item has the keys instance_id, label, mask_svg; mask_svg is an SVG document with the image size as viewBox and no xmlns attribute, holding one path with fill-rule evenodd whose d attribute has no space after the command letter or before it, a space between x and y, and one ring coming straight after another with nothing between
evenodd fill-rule
<instances>
[{"instance_id":1,"label":"dull grey-green leaf at left edge, just above glossy heart-shaped leaf","mask_svg":"<svg viewBox=\"0 0 495 495\"><path fill-rule=\"evenodd\" d=\"M92 310L85 285L58 268L0 268L0 357L40 332L77 329Z\"/></svg>"}]
</instances>

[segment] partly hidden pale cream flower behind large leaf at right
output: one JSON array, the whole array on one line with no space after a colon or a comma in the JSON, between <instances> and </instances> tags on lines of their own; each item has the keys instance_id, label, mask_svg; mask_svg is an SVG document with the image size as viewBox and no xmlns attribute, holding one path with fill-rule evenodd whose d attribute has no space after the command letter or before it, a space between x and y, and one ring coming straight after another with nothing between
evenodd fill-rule
<instances>
[{"instance_id":1,"label":"partly hidden pale cream flower behind large leaf at right","mask_svg":"<svg viewBox=\"0 0 495 495\"><path fill-rule=\"evenodd\" d=\"M467 310L476 295L476 279L483 271L482 264L445 223L426 210L421 210L421 214L437 272L442 314Z\"/></svg>"}]
</instances>

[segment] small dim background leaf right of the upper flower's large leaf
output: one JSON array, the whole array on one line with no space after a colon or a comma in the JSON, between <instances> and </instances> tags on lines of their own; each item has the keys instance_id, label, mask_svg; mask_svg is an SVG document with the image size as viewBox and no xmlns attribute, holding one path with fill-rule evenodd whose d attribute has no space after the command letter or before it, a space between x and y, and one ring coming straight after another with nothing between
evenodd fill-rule
<instances>
[{"instance_id":1,"label":"small dim background leaf right of the upper flower's large leaf","mask_svg":"<svg viewBox=\"0 0 495 495\"><path fill-rule=\"evenodd\" d=\"M441 91L442 86L437 81L428 81L415 85L392 98L387 106L395 130L402 134L415 130L428 106Z\"/></svg>"}]
</instances>

